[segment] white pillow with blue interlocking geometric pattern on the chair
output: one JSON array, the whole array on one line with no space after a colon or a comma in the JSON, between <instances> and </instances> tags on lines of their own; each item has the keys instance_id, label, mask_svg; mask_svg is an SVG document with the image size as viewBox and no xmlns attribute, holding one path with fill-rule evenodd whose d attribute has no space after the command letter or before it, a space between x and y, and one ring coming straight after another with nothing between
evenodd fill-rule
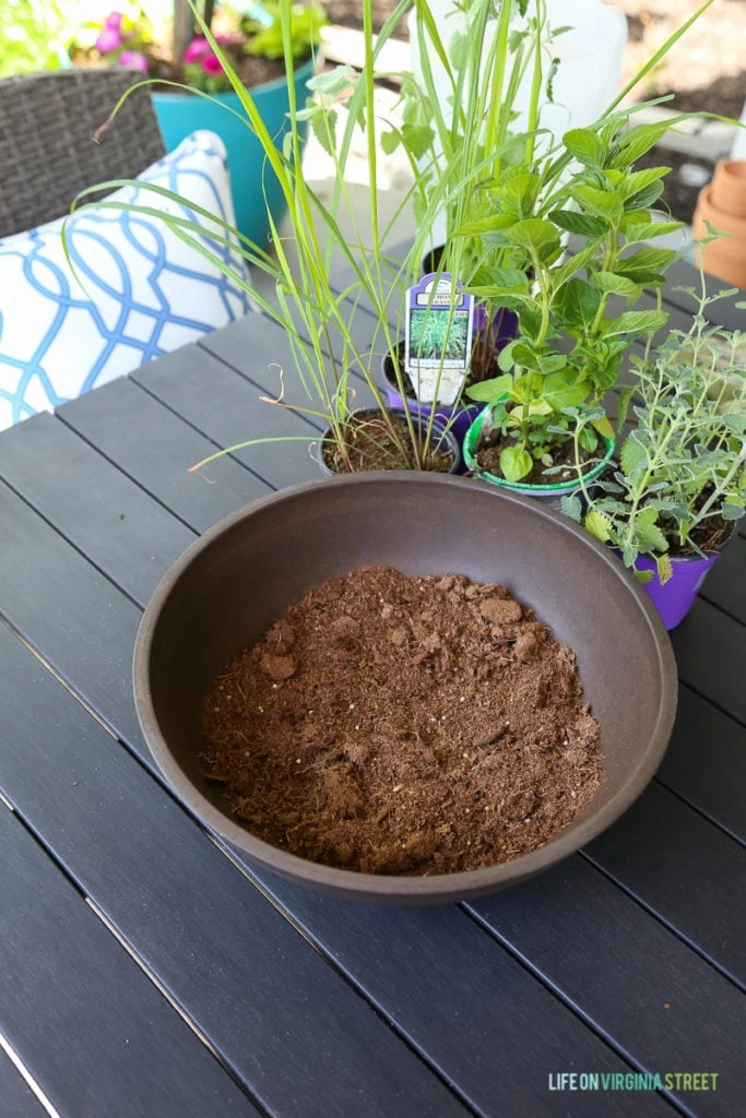
<instances>
[{"instance_id":1,"label":"white pillow with blue interlocking geometric pattern on the chair","mask_svg":"<svg viewBox=\"0 0 746 1118\"><path fill-rule=\"evenodd\" d=\"M139 176L234 224L223 141L195 132ZM125 187L107 201L181 215L200 240L248 278L226 236L190 207ZM245 291L163 221L126 210L75 214L0 240L0 430L131 372L248 310ZM234 241L235 245L235 241Z\"/></svg>"}]
</instances>

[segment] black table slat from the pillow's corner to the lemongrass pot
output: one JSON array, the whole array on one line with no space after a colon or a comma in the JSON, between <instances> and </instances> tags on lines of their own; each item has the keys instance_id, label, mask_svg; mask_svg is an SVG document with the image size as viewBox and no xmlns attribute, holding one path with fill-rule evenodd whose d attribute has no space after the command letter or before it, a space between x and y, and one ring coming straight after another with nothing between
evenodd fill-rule
<instances>
[{"instance_id":1,"label":"black table slat from the pillow's corner to the lemongrass pot","mask_svg":"<svg viewBox=\"0 0 746 1118\"><path fill-rule=\"evenodd\" d=\"M261 320L263 321L263 320ZM247 320L249 323L251 320ZM268 323L265 324L265 329ZM270 352L270 345L266 347ZM247 367L255 368L257 383L237 376L206 350L190 347L161 361L143 366L134 378L149 392L172 408L198 430L221 447L249 439L282 438L280 443L257 443L234 456L263 480L271 472L274 486L293 485L319 476L309 447L319 437L319 425L287 408L263 402L262 396L280 394L278 375L268 369L262 356L261 337L253 339ZM290 389L298 389L294 375L287 377ZM302 392L289 392L293 402L302 402ZM306 406L309 401L305 401ZM296 439L301 442L296 442Z\"/></svg>"}]
</instances>

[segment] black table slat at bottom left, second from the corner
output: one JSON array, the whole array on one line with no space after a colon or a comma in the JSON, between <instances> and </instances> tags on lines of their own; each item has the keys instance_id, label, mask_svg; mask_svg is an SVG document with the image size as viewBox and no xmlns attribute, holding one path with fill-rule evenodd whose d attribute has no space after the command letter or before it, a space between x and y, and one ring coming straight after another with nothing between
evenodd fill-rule
<instances>
[{"instance_id":1,"label":"black table slat at bottom left, second from the corner","mask_svg":"<svg viewBox=\"0 0 746 1118\"><path fill-rule=\"evenodd\" d=\"M53 1106L70 1118L256 1114L2 807L0 847L0 1031Z\"/></svg>"}]
</instances>

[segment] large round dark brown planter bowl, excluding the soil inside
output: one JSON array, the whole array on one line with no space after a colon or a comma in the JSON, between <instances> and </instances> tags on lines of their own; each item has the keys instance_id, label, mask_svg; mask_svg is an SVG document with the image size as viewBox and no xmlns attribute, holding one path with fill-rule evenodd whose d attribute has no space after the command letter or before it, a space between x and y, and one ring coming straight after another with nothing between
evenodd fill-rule
<instances>
[{"instance_id":1,"label":"large round dark brown planter bowl, excluding the soil inside","mask_svg":"<svg viewBox=\"0 0 746 1118\"><path fill-rule=\"evenodd\" d=\"M434 877L337 870L254 837L204 779L200 705L219 670L311 587L370 563L502 582L576 651L602 726L604 780L583 814L541 850ZM283 490L192 544L142 618L134 693L166 778L207 827L257 866L344 898L436 904L523 881L618 818L661 761L676 713L677 673L644 590L572 521L479 481L387 471Z\"/></svg>"}]
</instances>

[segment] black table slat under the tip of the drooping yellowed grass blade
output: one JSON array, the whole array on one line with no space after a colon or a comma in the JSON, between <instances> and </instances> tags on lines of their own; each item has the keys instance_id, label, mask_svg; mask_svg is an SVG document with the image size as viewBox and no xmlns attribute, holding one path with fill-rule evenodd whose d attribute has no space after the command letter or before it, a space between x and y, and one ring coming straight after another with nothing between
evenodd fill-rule
<instances>
[{"instance_id":1,"label":"black table slat under the tip of the drooping yellowed grass blade","mask_svg":"<svg viewBox=\"0 0 746 1118\"><path fill-rule=\"evenodd\" d=\"M128 377L72 400L57 415L198 532L267 492L227 456L190 474L189 466L218 447Z\"/></svg>"}]
</instances>

